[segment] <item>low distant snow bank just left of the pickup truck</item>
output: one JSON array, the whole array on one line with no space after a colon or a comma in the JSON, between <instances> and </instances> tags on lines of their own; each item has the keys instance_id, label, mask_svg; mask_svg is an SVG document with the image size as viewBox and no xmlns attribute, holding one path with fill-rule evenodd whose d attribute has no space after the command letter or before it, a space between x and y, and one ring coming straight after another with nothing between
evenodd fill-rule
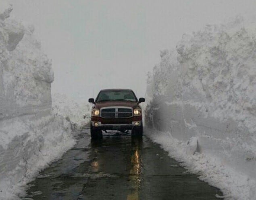
<instances>
[{"instance_id":1,"label":"low distant snow bank just left of the pickup truck","mask_svg":"<svg viewBox=\"0 0 256 200\"><path fill-rule=\"evenodd\" d=\"M85 126L91 117L91 108L87 101L78 102L64 94L52 95L52 111L71 122L74 129Z\"/></svg>"}]
</instances>

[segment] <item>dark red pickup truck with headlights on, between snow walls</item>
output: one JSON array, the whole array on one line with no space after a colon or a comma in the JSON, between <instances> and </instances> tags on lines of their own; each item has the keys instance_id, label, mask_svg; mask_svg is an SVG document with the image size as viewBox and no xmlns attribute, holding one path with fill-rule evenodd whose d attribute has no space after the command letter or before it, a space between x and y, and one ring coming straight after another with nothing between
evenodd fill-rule
<instances>
[{"instance_id":1,"label":"dark red pickup truck with headlights on, between snow walls","mask_svg":"<svg viewBox=\"0 0 256 200\"><path fill-rule=\"evenodd\" d=\"M132 136L142 137L142 108L139 103L144 98L137 99L132 90L129 89L106 89L101 90L95 101L91 113L91 137L102 138L102 130L118 130L128 132Z\"/></svg>"}]
</instances>

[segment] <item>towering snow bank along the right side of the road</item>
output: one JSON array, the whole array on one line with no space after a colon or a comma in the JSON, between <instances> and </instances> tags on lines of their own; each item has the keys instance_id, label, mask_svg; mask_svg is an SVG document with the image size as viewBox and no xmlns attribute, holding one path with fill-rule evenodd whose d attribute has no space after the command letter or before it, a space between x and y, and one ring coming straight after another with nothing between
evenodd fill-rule
<instances>
[{"instance_id":1,"label":"towering snow bank along the right side of the road","mask_svg":"<svg viewBox=\"0 0 256 200\"><path fill-rule=\"evenodd\" d=\"M148 75L149 136L227 199L256 199L256 24L207 25L160 56Z\"/></svg>"}]
</instances>

